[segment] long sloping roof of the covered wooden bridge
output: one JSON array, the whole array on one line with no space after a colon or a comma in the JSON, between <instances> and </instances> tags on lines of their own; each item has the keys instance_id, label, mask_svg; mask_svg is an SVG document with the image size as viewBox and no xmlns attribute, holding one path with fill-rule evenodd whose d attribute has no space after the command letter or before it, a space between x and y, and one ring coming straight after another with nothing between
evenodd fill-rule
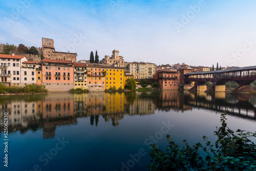
<instances>
[{"instance_id":1,"label":"long sloping roof of the covered wooden bridge","mask_svg":"<svg viewBox=\"0 0 256 171\"><path fill-rule=\"evenodd\" d=\"M237 72L237 71L248 71L248 70L256 70L256 66L232 68L232 69L217 70L217 71L191 72L191 73L186 73L184 75L214 74L214 73Z\"/></svg>"}]
</instances>

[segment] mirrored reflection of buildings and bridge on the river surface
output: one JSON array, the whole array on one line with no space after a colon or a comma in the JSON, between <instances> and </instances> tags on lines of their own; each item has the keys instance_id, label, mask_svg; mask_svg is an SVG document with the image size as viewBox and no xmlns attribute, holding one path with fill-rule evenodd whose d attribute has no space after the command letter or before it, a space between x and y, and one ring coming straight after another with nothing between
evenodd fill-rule
<instances>
[{"instance_id":1,"label":"mirrored reflection of buildings and bridge on the river surface","mask_svg":"<svg viewBox=\"0 0 256 171\"><path fill-rule=\"evenodd\" d=\"M44 139L53 138L60 125L77 124L78 118L90 118L91 126L98 126L99 117L119 125L125 115L152 115L156 110L184 112L195 108L223 112L255 119L256 96L206 94L178 91L128 92L84 94L51 93L36 96L3 96L0 100L1 127L4 112L9 115L9 132L42 130ZM1 129L3 130L3 129Z\"/></svg>"}]
</instances>

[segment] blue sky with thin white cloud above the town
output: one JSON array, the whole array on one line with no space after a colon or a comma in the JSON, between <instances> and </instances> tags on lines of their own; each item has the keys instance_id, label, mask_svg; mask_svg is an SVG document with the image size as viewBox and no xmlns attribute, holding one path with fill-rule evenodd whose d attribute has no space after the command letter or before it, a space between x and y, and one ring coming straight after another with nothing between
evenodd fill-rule
<instances>
[{"instance_id":1,"label":"blue sky with thin white cloud above the town","mask_svg":"<svg viewBox=\"0 0 256 171\"><path fill-rule=\"evenodd\" d=\"M0 42L41 46L89 60L120 51L125 61L192 66L256 65L256 1L1 1Z\"/></svg>"}]
</instances>

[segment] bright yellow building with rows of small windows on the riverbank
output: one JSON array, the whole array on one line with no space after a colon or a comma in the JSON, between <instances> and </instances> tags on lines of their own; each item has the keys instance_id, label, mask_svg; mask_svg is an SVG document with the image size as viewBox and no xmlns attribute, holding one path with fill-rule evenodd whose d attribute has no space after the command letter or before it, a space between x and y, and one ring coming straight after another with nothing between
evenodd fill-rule
<instances>
[{"instance_id":1,"label":"bright yellow building with rows of small windows on the riverbank","mask_svg":"<svg viewBox=\"0 0 256 171\"><path fill-rule=\"evenodd\" d=\"M106 67L105 70L105 90L115 87L124 89L124 69L116 67Z\"/></svg>"}]
</instances>

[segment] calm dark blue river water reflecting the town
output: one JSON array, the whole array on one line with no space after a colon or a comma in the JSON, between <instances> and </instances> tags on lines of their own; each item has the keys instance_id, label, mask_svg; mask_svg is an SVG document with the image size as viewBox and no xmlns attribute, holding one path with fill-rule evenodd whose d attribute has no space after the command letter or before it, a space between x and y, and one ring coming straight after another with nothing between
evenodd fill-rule
<instances>
[{"instance_id":1,"label":"calm dark blue river water reflecting the town","mask_svg":"<svg viewBox=\"0 0 256 171\"><path fill-rule=\"evenodd\" d=\"M216 141L225 110L231 130L256 131L256 96L178 91L1 96L0 170L147 170L150 144ZM8 153L4 153L8 113ZM253 140L256 142L256 140ZM8 168L4 157L8 154Z\"/></svg>"}]
</instances>

